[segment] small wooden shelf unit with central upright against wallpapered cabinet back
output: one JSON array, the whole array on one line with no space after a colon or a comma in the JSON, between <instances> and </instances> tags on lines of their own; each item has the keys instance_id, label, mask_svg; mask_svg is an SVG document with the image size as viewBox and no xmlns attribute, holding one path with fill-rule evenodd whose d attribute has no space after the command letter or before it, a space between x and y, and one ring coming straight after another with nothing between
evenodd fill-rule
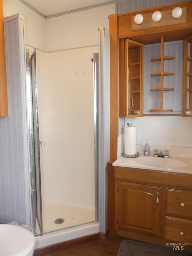
<instances>
[{"instance_id":1,"label":"small wooden shelf unit with central upright against wallpapered cabinet back","mask_svg":"<svg viewBox=\"0 0 192 256\"><path fill-rule=\"evenodd\" d=\"M151 89L151 92L161 92L161 103L160 109L151 109L152 112L171 112L173 109L163 109L163 92L164 91L173 91L174 88L164 88L164 76L173 76L175 73L172 72L164 72L164 61L173 60L175 57L172 56L164 56L164 38L161 36L161 56L151 59L151 62L161 61L161 72L151 74L151 77L161 77L161 88Z\"/></svg>"}]
</instances>

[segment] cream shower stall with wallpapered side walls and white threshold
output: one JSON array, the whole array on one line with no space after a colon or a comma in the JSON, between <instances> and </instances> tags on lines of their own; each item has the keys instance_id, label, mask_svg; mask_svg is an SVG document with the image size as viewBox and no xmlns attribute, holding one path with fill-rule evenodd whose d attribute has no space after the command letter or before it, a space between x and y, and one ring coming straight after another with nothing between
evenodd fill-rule
<instances>
[{"instance_id":1,"label":"cream shower stall with wallpapered side walls and white threshold","mask_svg":"<svg viewBox=\"0 0 192 256\"><path fill-rule=\"evenodd\" d=\"M33 227L35 248L105 233L109 32L99 30L98 45L44 52L26 45L22 15L4 28L1 222Z\"/></svg>"}]
</instances>

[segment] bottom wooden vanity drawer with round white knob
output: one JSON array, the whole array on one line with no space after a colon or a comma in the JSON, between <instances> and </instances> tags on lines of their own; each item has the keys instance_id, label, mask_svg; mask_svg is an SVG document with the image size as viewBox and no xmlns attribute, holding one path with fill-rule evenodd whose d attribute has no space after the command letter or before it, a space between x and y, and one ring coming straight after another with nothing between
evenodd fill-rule
<instances>
[{"instance_id":1,"label":"bottom wooden vanity drawer with round white knob","mask_svg":"<svg viewBox=\"0 0 192 256\"><path fill-rule=\"evenodd\" d=\"M165 216L165 238L175 242L192 242L192 221Z\"/></svg>"}]
</instances>

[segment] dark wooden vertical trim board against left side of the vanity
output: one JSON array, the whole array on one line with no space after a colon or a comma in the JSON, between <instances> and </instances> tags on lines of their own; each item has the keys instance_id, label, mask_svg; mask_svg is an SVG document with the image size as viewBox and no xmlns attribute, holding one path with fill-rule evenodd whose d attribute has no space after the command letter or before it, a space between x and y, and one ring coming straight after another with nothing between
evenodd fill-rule
<instances>
[{"instance_id":1,"label":"dark wooden vertical trim board against left side of the vanity","mask_svg":"<svg viewBox=\"0 0 192 256\"><path fill-rule=\"evenodd\" d=\"M109 235L115 236L115 176L113 161L107 163L107 175L108 175L108 212L107 212L107 224L109 229Z\"/></svg>"}]
</instances>

